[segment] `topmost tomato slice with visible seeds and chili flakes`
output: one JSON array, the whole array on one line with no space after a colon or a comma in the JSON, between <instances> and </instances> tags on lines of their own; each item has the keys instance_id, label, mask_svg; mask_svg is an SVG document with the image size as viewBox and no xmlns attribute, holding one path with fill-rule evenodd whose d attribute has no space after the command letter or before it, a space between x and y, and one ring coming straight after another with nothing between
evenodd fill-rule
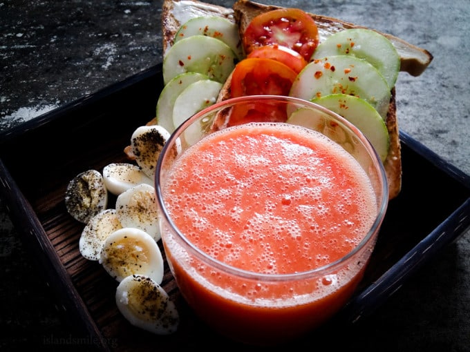
<instances>
[{"instance_id":1,"label":"topmost tomato slice with visible seeds and chili flakes","mask_svg":"<svg viewBox=\"0 0 470 352\"><path fill-rule=\"evenodd\" d=\"M312 17L299 8L279 8L254 17L243 35L249 54L255 48L272 44L286 46L310 61L319 43L318 28Z\"/></svg>"}]
</instances>

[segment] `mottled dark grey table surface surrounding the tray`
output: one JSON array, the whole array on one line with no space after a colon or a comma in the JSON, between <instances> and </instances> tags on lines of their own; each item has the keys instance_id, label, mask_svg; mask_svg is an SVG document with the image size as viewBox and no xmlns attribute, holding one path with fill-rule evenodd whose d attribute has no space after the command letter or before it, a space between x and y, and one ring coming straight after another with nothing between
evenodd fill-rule
<instances>
[{"instance_id":1,"label":"mottled dark grey table surface surrounding the tray","mask_svg":"<svg viewBox=\"0 0 470 352\"><path fill-rule=\"evenodd\" d=\"M232 2L212 0L227 6ZM400 73L400 128L470 174L468 0L260 2L390 32L432 52L433 63L422 76ZM160 62L161 5L162 1L1 1L0 128L17 126ZM350 342L351 348L470 351L469 240L467 231L412 277L368 318L364 335L370 339ZM1 203L0 280L1 351L73 347L73 326L59 315L41 280L41 268L26 253ZM63 344L48 343L60 338Z\"/></svg>"}]
</instances>

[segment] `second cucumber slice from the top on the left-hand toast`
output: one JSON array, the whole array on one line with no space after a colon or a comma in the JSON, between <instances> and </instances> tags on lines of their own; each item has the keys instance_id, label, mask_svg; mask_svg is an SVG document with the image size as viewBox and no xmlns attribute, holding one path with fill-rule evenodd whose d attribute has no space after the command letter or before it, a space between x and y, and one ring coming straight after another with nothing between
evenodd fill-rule
<instances>
[{"instance_id":1,"label":"second cucumber slice from the top on the left-hand toast","mask_svg":"<svg viewBox=\"0 0 470 352\"><path fill-rule=\"evenodd\" d=\"M163 82L167 84L184 72L198 72L223 83L234 70L236 61L236 54L223 41L193 35L180 39L167 51L163 59Z\"/></svg>"}]
</instances>

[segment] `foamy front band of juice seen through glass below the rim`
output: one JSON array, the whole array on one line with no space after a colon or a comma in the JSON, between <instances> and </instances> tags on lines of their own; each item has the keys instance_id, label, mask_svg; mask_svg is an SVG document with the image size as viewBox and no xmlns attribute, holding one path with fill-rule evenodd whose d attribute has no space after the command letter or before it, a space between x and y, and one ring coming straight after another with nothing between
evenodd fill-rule
<instances>
[{"instance_id":1,"label":"foamy front band of juice seen through glass below the rim","mask_svg":"<svg viewBox=\"0 0 470 352\"><path fill-rule=\"evenodd\" d=\"M316 275L311 279L284 281L280 284L279 281L267 280L265 277L261 282L259 278L254 280L246 277L241 278L222 272L216 266L203 264L174 239L167 241L165 246L169 248L175 262L178 262L177 267L172 267L177 280L179 275L188 275L191 277L191 282L197 283L200 289L211 291L226 300L269 309L301 306L315 301L321 302L326 297L334 295L336 291L347 288L351 282L360 280L366 264L366 259L359 260L348 266L342 266L333 273ZM372 248L369 248L369 251L371 250ZM366 257L367 255L364 253L364 258ZM189 291L197 292L194 288ZM191 297L189 297L189 301L192 301ZM200 300L195 302L200 304Z\"/></svg>"}]
</instances>

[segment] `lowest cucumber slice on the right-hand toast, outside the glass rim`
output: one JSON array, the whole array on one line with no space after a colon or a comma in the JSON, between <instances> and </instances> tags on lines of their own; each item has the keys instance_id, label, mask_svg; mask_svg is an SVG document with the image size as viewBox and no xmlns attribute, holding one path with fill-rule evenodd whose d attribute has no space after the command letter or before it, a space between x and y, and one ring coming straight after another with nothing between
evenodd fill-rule
<instances>
[{"instance_id":1,"label":"lowest cucumber slice on the right-hand toast, outside the glass rim","mask_svg":"<svg viewBox=\"0 0 470 352\"><path fill-rule=\"evenodd\" d=\"M382 162L388 155L389 137L384 119L367 101L352 95L326 95L312 102L341 115L355 125L370 141Z\"/></svg>"}]
</instances>

